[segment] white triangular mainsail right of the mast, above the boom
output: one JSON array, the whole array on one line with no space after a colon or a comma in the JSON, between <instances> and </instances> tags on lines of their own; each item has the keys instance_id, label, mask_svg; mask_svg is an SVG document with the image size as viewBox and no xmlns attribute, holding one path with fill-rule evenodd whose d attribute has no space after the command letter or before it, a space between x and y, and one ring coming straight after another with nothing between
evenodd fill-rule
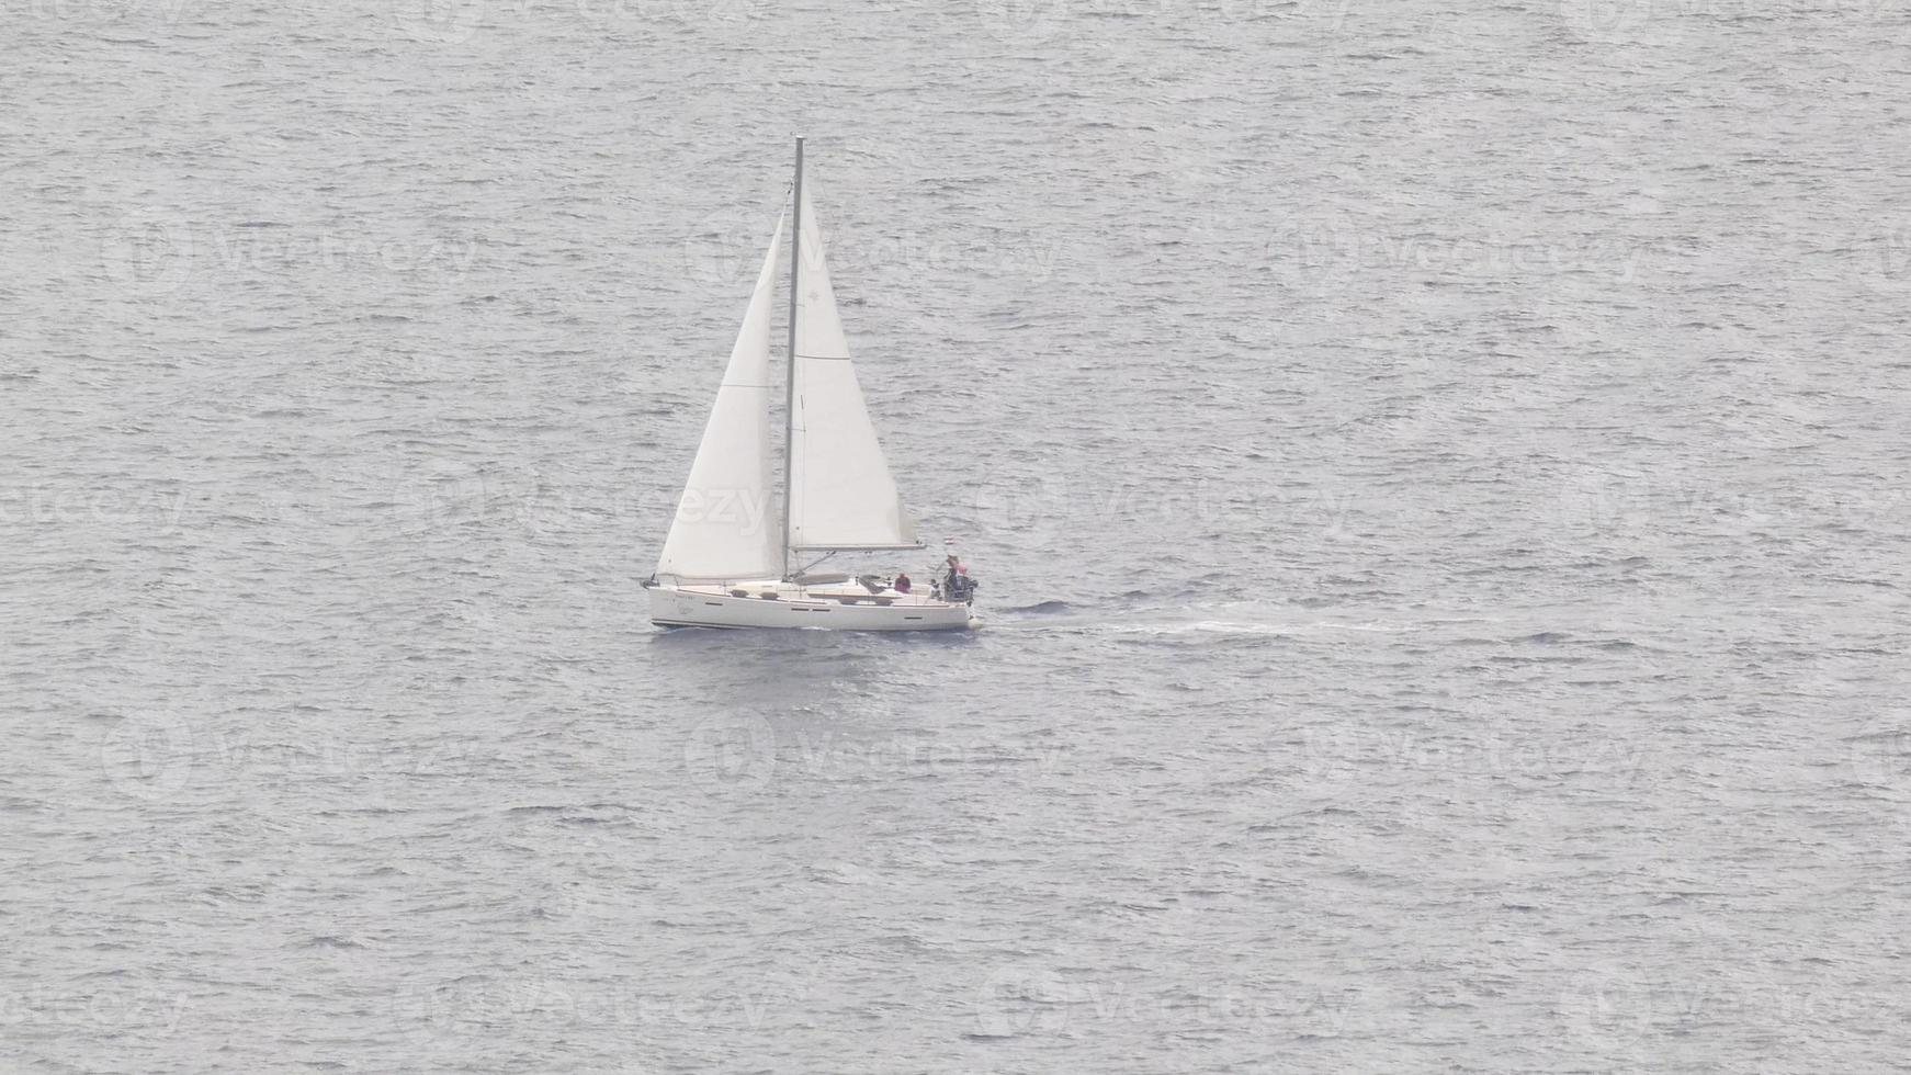
<instances>
[{"instance_id":1,"label":"white triangular mainsail right of the mast, above the boom","mask_svg":"<svg viewBox=\"0 0 1911 1075\"><path fill-rule=\"evenodd\" d=\"M822 227L803 191L797 275L795 405L789 433L789 546L795 550L919 548L896 479L848 361L824 258Z\"/></svg>"}]
</instances>

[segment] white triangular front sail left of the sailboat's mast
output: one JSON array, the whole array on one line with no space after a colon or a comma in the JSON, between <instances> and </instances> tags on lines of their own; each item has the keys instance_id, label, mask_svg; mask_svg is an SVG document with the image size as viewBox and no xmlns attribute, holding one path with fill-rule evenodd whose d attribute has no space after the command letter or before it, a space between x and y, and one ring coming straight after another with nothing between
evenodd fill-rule
<instances>
[{"instance_id":1,"label":"white triangular front sail left of the sailboat's mast","mask_svg":"<svg viewBox=\"0 0 1911 1075\"><path fill-rule=\"evenodd\" d=\"M657 559L659 577L736 580L784 573L782 533L772 502L770 399L784 390L770 378L770 307L784 220L757 273L743 328L703 426L690 481L676 504L671 537Z\"/></svg>"}]
</instances>

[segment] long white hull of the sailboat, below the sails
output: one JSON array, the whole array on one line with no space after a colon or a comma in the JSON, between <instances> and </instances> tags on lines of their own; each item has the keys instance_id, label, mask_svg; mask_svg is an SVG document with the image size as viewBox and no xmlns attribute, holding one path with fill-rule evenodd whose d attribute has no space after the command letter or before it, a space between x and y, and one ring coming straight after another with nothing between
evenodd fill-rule
<instances>
[{"instance_id":1,"label":"long white hull of the sailboat, below the sails","mask_svg":"<svg viewBox=\"0 0 1911 1075\"><path fill-rule=\"evenodd\" d=\"M747 596L738 598L734 590ZM764 598L762 594L776 594ZM806 628L806 630L973 630L982 626L969 605L923 594L818 590L789 582L669 586L650 590L650 622L657 626Z\"/></svg>"}]
</instances>

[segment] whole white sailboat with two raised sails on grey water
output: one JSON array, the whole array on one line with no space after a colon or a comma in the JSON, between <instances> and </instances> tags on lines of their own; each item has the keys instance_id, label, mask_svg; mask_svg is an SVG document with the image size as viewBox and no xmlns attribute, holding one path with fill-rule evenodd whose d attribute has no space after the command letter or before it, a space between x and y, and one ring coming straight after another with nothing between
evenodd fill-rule
<instances>
[{"instance_id":1,"label":"whole white sailboat with two raised sails on grey water","mask_svg":"<svg viewBox=\"0 0 1911 1075\"><path fill-rule=\"evenodd\" d=\"M789 235L789 349L770 370L770 307L784 218ZM772 401L782 393L782 445ZM784 460L782 487L774 483ZM772 500L780 512L772 514ZM856 384L837 315L822 227L803 187L803 139L789 208L776 220L690 481L644 580L659 626L791 626L829 630L967 630L975 580L948 558L921 584L891 575L820 573L845 554L923 550L896 495Z\"/></svg>"}]
</instances>

